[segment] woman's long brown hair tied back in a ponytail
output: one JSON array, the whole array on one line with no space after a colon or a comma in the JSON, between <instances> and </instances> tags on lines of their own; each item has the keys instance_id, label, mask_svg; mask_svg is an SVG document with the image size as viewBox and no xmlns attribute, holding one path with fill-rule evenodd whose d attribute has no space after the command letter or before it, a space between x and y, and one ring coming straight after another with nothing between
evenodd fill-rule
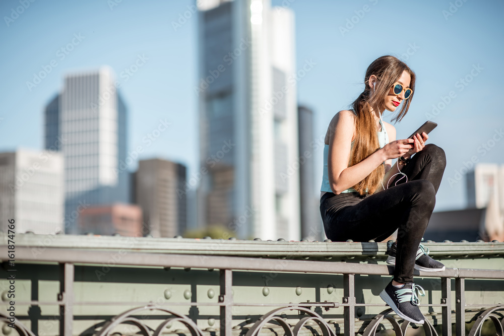
<instances>
[{"instance_id":1,"label":"woman's long brown hair tied back in a ponytail","mask_svg":"<svg viewBox=\"0 0 504 336\"><path fill-rule=\"evenodd\" d=\"M409 87L413 90L413 93L409 99L403 102L401 110L397 113L395 118L392 119L396 122L401 121L408 112L411 99L415 92L415 73L404 62L389 55L375 59L368 66L364 78L364 91L352 103L357 117L355 119L355 143L350 157L350 166L361 162L380 149L380 143L376 135L376 123L374 121L374 116L371 115L371 109L376 111L378 108L382 108L390 88L401 77L405 70L411 76ZM369 86L369 77L371 77L371 75L377 77L373 94L371 94L373 90ZM362 181L355 184L353 188L358 191L360 195L364 195L366 192L372 194L380 185L380 181L383 179L384 175L385 167L384 165L380 165Z\"/></svg>"}]
</instances>

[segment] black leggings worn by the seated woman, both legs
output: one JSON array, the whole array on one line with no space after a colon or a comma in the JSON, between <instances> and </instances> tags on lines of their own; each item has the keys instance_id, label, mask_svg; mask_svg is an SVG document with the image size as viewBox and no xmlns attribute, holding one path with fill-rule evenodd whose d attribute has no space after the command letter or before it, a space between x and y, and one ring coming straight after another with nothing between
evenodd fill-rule
<instances>
[{"instance_id":1,"label":"black leggings worn by the seated woman, both legs","mask_svg":"<svg viewBox=\"0 0 504 336\"><path fill-rule=\"evenodd\" d=\"M320 200L320 213L327 238L379 242L398 230L394 280L413 282L416 252L434 210L445 166L443 149L428 144L401 170L408 176L407 183L399 174L387 190L372 195L325 193Z\"/></svg>"}]
</instances>

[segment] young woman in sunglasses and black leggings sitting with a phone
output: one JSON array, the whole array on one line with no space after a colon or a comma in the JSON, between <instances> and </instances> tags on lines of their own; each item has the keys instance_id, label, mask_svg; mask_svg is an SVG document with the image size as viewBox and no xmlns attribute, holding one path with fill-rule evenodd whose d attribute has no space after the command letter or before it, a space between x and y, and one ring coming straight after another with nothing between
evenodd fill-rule
<instances>
[{"instance_id":1,"label":"young woman in sunglasses and black leggings sitting with a phone","mask_svg":"<svg viewBox=\"0 0 504 336\"><path fill-rule=\"evenodd\" d=\"M401 318L421 324L423 289L413 283L413 270L445 269L420 245L445 171L445 152L425 145L425 132L396 140L396 129L382 119L385 110L394 112L402 104L393 119L401 121L411 104L415 73L404 62L377 58L364 84L353 109L339 111L327 130L320 199L324 229L332 241L361 242L383 241L398 230L387 260L395 264L394 278L380 297Z\"/></svg>"}]
</instances>

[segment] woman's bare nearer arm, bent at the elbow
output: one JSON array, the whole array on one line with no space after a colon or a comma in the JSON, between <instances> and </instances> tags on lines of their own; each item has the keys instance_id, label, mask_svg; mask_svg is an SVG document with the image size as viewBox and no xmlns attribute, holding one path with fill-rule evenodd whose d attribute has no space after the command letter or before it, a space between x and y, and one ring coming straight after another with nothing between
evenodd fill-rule
<instances>
[{"instance_id":1,"label":"woman's bare nearer arm, bent at the elbow","mask_svg":"<svg viewBox=\"0 0 504 336\"><path fill-rule=\"evenodd\" d=\"M380 149L356 165L348 167L355 130L355 115L352 111L340 111L334 116L331 124L334 126L330 126L329 134L328 176L331 190L339 194L362 181L387 160L387 157L385 151Z\"/></svg>"}]
</instances>

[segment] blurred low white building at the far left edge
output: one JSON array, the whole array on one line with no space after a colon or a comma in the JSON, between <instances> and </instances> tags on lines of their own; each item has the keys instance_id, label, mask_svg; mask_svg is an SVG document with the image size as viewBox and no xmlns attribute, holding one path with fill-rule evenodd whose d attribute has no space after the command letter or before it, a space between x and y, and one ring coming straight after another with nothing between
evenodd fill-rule
<instances>
[{"instance_id":1,"label":"blurred low white building at the far left edge","mask_svg":"<svg viewBox=\"0 0 504 336\"><path fill-rule=\"evenodd\" d=\"M64 171L60 153L19 149L0 153L0 229L37 234L64 232Z\"/></svg>"}]
</instances>

